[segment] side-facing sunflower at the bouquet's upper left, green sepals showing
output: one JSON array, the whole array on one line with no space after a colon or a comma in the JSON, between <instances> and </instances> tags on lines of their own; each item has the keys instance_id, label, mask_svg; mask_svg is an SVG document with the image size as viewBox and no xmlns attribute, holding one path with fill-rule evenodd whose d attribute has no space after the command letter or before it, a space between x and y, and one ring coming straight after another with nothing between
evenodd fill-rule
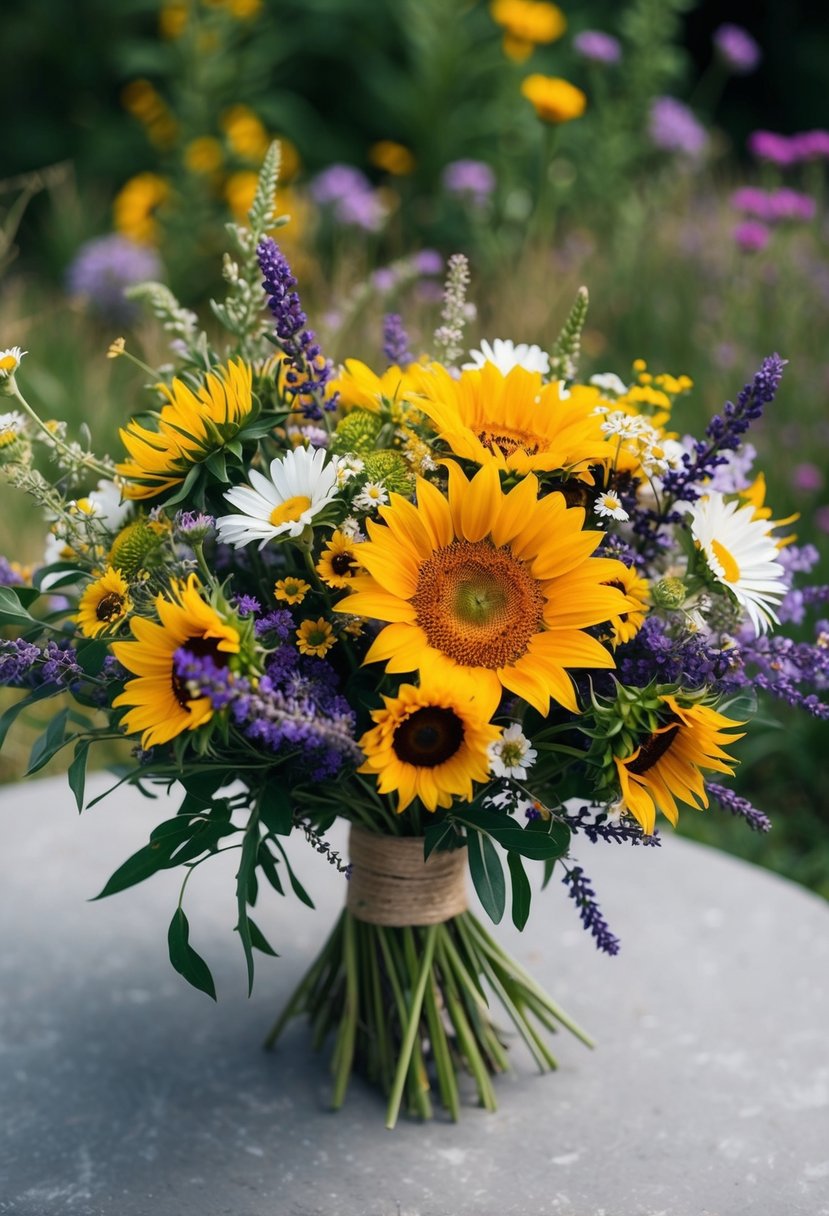
<instances>
[{"instance_id":1,"label":"side-facing sunflower at the bouquet's upper left, green sepals showing","mask_svg":"<svg viewBox=\"0 0 829 1216\"><path fill-rule=\"evenodd\" d=\"M180 379L158 388L167 405L157 429L134 418L120 430L130 455L117 466L125 499L154 499L180 485L193 465L232 441L254 412L250 367L241 359L208 372L198 392Z\"/></svg>"}]
</instances>

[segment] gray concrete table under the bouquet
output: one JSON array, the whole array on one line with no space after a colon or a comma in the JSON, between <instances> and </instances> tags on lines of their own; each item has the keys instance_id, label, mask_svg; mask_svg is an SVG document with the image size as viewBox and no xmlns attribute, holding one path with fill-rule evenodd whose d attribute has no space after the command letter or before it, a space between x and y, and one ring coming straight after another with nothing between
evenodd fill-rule
<instances>
[{"instance_id":1,"label":"gray concrete table under the bouquet","mask_svg":"<svg viewBox=\"0 0 829 1216\"><path fill-rule=\"evenodd\" d=\"M214 1006L167 961L179 874L86 902L170 807L123 792L79 821L61 778L0 799L0 1212L828 1216L829 906L799 888L678 839L580 843L621 953L563 889L497 931L598 1049L562 1036L546 1076L515 1049L497 1114L387 1132L361 1082L326 1109L303 1025L259 1047L343 897L304 841L317 911L265 897L282 957L250 1001L233 855L194 874Z\"/></svg>"}]
</instances>

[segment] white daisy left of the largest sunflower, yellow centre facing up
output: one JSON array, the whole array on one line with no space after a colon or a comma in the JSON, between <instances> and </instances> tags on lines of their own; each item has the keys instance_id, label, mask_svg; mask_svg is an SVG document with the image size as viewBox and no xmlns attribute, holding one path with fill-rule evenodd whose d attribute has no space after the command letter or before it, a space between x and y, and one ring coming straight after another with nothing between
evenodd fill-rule
<instances>
[{"instance_id":1,"label":"white daisy left of the largest sunflower, yellow centre facing up","mask_svg":"<svg viewBox=\"0 0 829 1216\"><path fill-rule=\"evenodd\" d=\"M270 478L250 469L250 485L237 485L225 497L242 514L216 520L219 539L242 548L258 540L264 548L277 536L299 536L337 494L338 458L326 463L325 447L295 447L271 461Z\"/></svg>"}]
</instances>

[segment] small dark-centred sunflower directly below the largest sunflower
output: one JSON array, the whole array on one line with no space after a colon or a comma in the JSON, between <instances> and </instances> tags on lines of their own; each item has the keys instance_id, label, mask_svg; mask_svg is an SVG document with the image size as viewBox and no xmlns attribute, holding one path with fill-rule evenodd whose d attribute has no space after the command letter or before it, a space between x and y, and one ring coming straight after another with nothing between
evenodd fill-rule
<instances>
[{"instance_id":1,"label":"small dark-centred sunflower directly below the largest sunflower","mask_svg":"<svg viewBox=\"0 0 829 1216\"><path fill-rule=\"evenodd\" d=\"M372 711L377 724L360 739L382 794L397 793L397 812L414 798L434 811L453 798L472 800L474 781L487 781L489 748L501 736L490 722L497 702L483 703L466 680L450 685L401 685Z\"/></svg>"}]
</instances>

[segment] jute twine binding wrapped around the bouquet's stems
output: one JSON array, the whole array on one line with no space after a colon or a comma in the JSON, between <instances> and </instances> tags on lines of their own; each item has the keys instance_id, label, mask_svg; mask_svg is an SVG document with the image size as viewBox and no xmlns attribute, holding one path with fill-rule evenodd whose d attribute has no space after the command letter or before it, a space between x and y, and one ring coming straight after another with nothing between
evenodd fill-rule
<instances>
[{"instance_id":1,"label":"jute twine binding wrapped around the bouquet's stems","mask_svg":"<svg viewBox=\"0 0 829 1216\"><path fill-rule=\"evenodd\" d=\"M368 924L441 924L467 908L467 855L433 852L421 837L387 837L351 824L345 906Z\"/></svg>"}]
</instances>

